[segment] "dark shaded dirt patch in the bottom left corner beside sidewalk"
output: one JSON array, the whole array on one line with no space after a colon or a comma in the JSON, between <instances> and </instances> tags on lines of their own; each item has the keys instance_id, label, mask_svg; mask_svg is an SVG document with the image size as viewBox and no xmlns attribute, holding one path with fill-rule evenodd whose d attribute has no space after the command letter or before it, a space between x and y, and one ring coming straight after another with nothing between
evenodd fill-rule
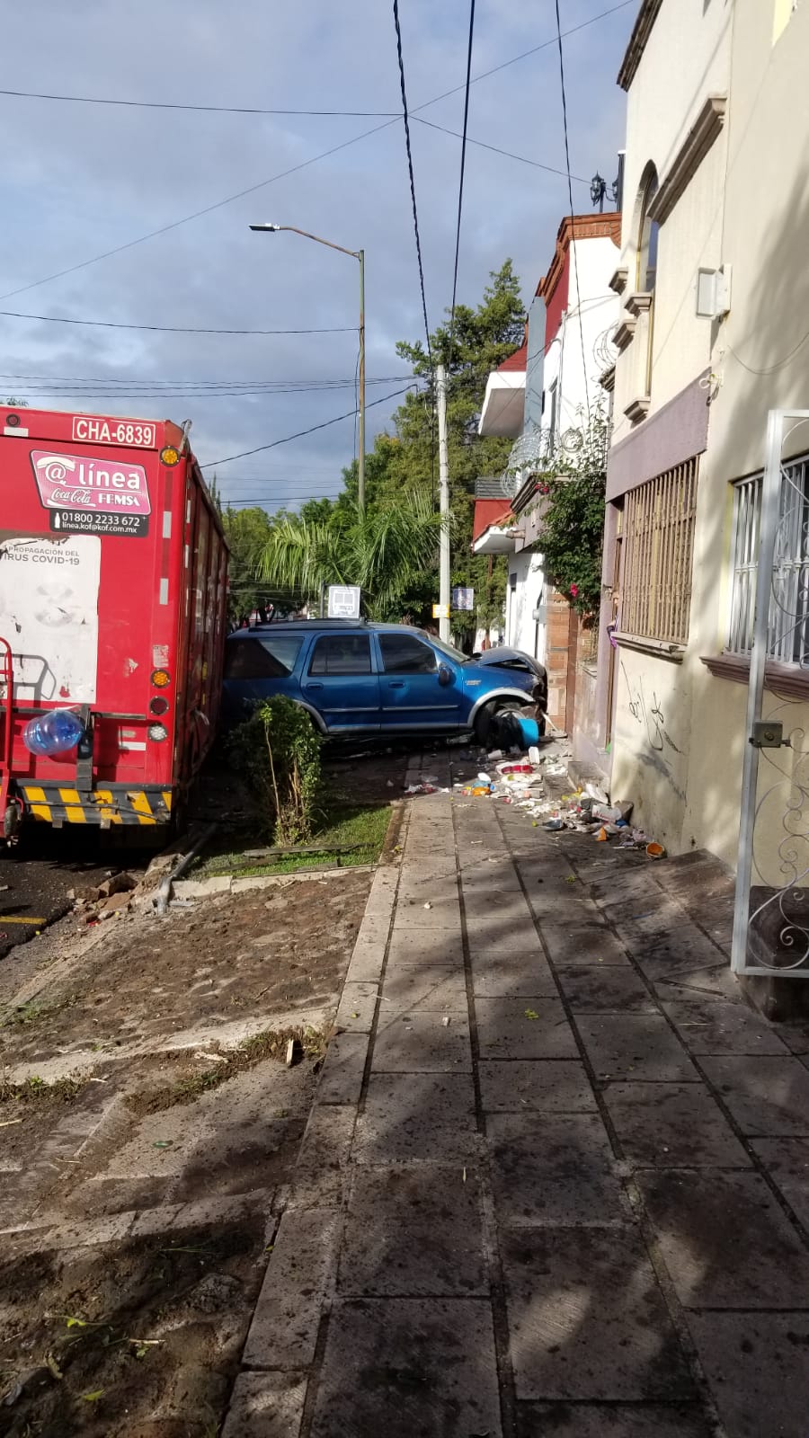
<instances>
[{"instance_id":1,"label":"dark shaded dirt patch in the bottom left corner beside sidewalk","mask_svg":"<svg viewBox=\"0 0 809 1438\"><path fill-rule=\"evenodd\" d=\"M263 1221L0 1265L0 1434L214 1438L268 1261Z\"/></svg>"}]
</instances>

